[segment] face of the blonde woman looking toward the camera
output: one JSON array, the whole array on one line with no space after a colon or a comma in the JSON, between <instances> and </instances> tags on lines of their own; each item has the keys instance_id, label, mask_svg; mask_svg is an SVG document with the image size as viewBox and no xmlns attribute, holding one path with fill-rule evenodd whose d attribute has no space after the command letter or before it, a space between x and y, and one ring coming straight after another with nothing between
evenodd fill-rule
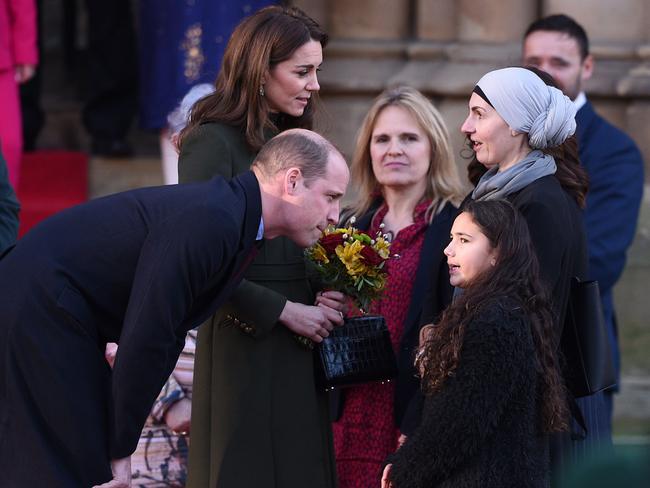
<instances>
[{"instance_id":1,"label":"face of the blonde woman looking toward the camera","mask_svg":"<svg viewBox=\"0 0 650 488\"><path fill-rule=\"evenodd\" d=\"M370 159L380 185L426 191L431 144L407 109L389 105L379 113L370 136Z\"/></svg>"}]
</instances>

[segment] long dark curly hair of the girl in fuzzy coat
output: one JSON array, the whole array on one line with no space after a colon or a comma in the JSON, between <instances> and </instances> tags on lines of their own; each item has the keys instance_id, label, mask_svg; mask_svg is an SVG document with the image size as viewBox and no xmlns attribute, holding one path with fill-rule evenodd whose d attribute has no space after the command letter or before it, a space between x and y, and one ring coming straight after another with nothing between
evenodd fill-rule
<instances>
[{"instance_id":1,"label":"long dark curly hair of the girl in fuzzy coat","mask_svg":"<svg viewBox=\"0 0 650 488\"><path fill-rule=\"evenodd\" d=\"M461 208L470 215L496 250L496 265L477 276L443 313L419 351L416 367L422 371L422 388L431 394L461 361L467 324L481 310L504 297L518 302L529 319L541 380L540 400L545 432L568 428L566 391L553 340L553 318L548 295L539 277L539 265L528 225L507 201L469 200Z\"/></svg>"}]
</instances>

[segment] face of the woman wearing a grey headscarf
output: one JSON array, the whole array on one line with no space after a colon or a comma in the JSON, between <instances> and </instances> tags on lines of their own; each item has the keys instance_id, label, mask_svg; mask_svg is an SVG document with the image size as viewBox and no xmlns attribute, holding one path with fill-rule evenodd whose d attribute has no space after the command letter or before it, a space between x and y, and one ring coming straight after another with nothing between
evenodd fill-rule
<instances>
[{"instance_id":1,"label":"face of the woman wearing a grey headscarf","mask_svg":"<svg viewBox=\"0 0 650 488\"><path fill-rule=\"evenodd\" d=\"M470 139L478 162L487 169L499 166L503 171L523 157L525 134L513 135L506 121L476 93L469 99L469 115L460 130Z\"/></svg>"}]
</instances>

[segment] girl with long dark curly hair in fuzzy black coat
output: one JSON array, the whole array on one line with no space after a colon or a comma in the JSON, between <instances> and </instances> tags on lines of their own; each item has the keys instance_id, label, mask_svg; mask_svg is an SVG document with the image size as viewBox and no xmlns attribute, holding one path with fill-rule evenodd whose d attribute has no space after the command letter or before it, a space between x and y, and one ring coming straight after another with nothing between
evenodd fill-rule
<instances>
[{"instance_id":1,"label":"girl with long dark curly hair in fuzzy black coat","mask_svg":"<svg viewBox=\"0 0 650 488\"><path fill-rule=\"evenodd\" d=\"M382 487L545 488L548 432L567 429L553 319L526 221L504 200L469 200L445 248L463 290L416 366L422 421Z\"/></svg>"}]
</instances>

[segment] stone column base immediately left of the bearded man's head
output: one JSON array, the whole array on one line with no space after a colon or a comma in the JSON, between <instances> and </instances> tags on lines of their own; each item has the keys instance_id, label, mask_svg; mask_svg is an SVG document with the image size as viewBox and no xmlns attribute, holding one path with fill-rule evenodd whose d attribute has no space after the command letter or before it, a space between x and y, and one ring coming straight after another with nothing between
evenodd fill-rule
<instances>
[{"instance_id":1,"label":"stone column base immediately left of the bearded man's head","mask_svg":"<svg viewBox=\"0 0 650 488\"><path fill-rule=\"evenodd\" d=\"M459 39L470 42L519 42L537 18L536 0L458 0Z\"/></svg>"}]
</instances>

